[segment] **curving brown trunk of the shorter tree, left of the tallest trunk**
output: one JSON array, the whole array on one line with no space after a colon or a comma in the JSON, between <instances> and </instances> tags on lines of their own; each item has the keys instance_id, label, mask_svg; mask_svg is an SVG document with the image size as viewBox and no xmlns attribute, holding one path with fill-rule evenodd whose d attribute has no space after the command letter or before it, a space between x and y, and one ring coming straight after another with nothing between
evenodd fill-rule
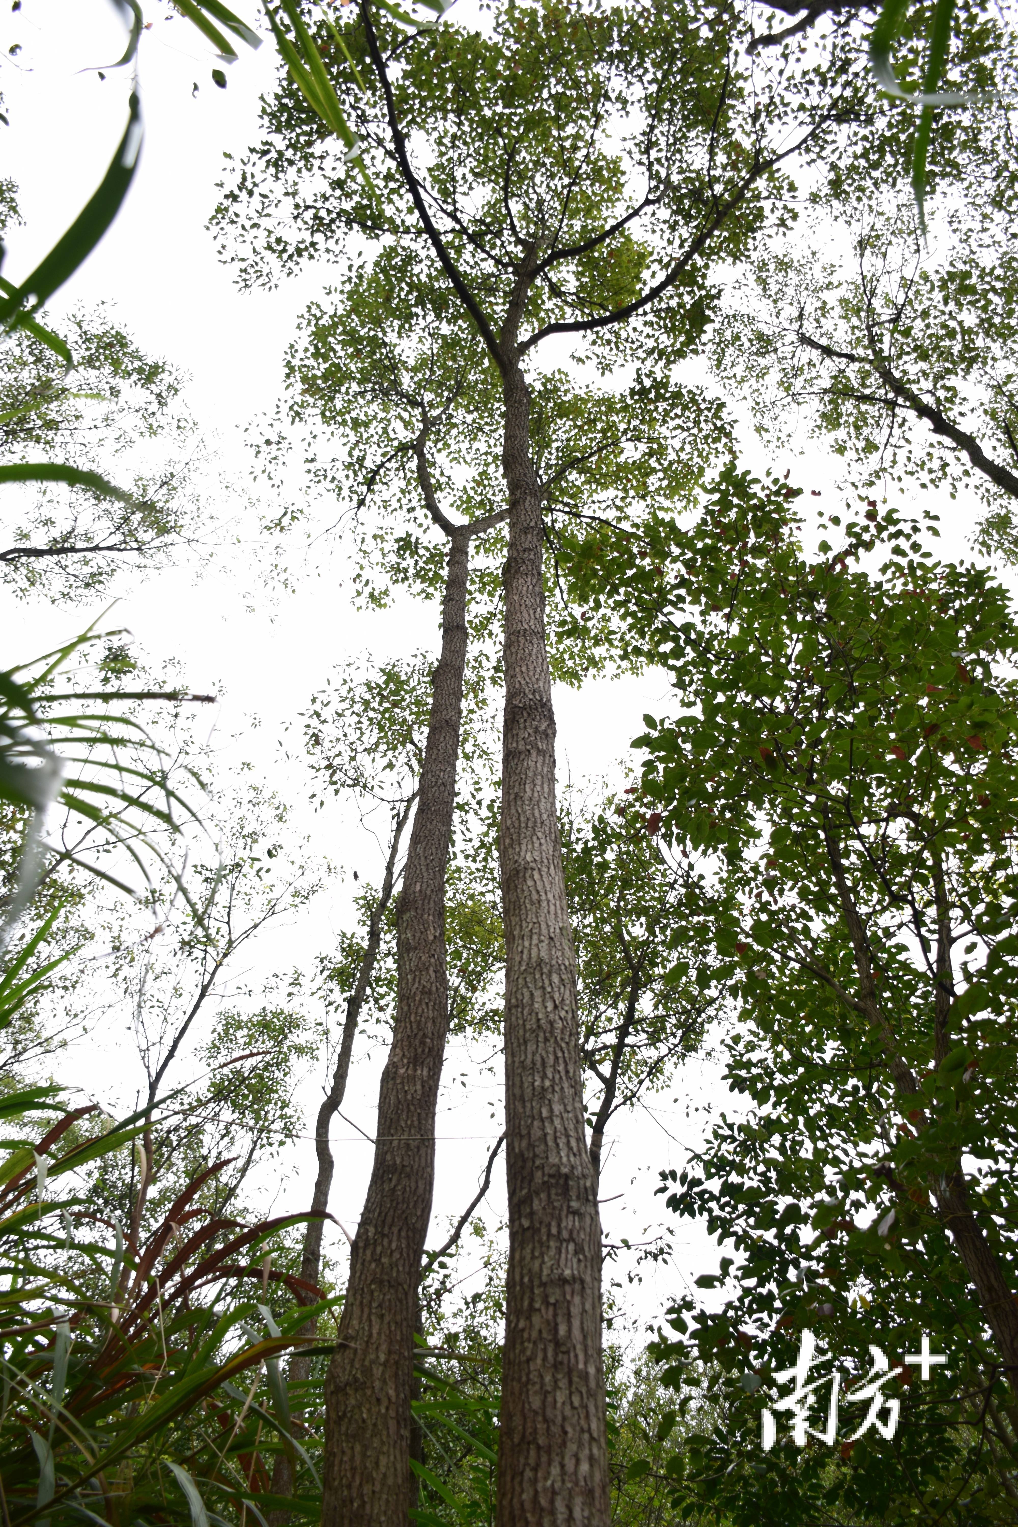
<instances>
[{"instance_id":1,"label":"curving brown trunk of the shorter tree, left of the tallest trunk","mask_svg":"<svg viewBox=\"0 0 1018 1527\"><path fill-rule=\"evenodd\" d=\"M397 902L397 1011L371 1185L325 1385L322 1527L406 1527L414 1322L449 1023L446 866L467 654L469 533L455 531L417 817Z\"/></svg>"}]
</instances>

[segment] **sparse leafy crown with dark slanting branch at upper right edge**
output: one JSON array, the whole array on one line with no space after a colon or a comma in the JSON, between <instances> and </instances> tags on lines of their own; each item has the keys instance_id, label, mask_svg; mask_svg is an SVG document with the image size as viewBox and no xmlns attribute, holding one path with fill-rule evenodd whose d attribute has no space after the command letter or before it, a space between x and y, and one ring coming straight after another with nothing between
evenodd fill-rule
<instances>
[{"instance_id":1,"label":"sparse leafy crown with dark slanting branch at upper right edge","mask_svg":"<svg viewBox=\"0 0 1018 1527\"><path fill-rule=\"evenodd\" d=\"M914 481L975 493L984 550L1010 559L1018 272L994 203L991 185L974 191L940 220L933 252L914 214L847 209L833 224L844 253L826 261L806 252L832 241L830 209L817 211L798 253L760 252L713 342L719 374L748 389L768 438L788 446L804 409L870 490Z\"/></svg>"}]
</instances>

